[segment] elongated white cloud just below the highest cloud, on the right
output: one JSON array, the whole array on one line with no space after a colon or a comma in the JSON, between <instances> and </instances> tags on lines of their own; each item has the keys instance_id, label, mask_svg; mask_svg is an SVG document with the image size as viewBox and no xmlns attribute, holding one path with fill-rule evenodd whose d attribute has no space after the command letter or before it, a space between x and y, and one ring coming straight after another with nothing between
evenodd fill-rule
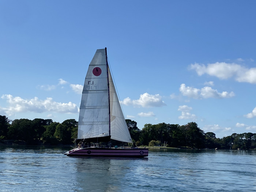
<instances>
[{"instance_id":1,"label":"elongated white cloud just below the highest cloud, on the right","mask_svg":"<svg viewBox=\"0 0 256 192\"><path fill-rule=\"evenodd\" d=\"M211 87L203 87L201 89L196 89L192 87L186 87L185 84L180 85L180 92L183 96L191 97L194 99L207 99L207 98L230 98L234 97L234 92L230 93L223 91L219 93L217 90L212 89Z\"/></svg>"}]
</instances>

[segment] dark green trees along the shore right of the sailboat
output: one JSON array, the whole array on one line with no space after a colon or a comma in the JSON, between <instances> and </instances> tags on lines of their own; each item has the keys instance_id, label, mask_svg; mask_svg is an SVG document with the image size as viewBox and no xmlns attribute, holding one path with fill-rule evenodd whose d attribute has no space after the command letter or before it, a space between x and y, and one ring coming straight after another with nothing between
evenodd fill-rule
<instances>
[{"instance_id":1,"label":"dark green trees along the shore right of the sailboat","mask_svg":"<svg viewBox=\"0 0 256 192\"><path fill-rule=\"evenodd\" d=\"M159 123L145 124L140 130L137 123L126 120L129 132L137 146L166 146L187 148L252 149L256 148L256 133L233 133L216 138L215 133L204 133L195 122L186 125Z\"/></svg>"}]
</instances>

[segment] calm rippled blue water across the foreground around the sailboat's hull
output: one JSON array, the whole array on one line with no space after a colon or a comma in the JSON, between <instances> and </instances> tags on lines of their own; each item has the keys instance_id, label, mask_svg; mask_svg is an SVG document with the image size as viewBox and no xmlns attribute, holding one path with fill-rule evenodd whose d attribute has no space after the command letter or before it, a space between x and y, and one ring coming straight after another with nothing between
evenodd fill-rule
<instances>
[{"instance_id":1,"label":"calm rippled blue water across the foreground around the sailboat's hull","mask_svg":"<svg viewBox=\"0 0 256 192\"><path fill-rule=\"evenodd\" d=\"M67 157L0 146L0 191L256 191L256 151L150 150L148 158Z\"/></svg>"}]
</instances>

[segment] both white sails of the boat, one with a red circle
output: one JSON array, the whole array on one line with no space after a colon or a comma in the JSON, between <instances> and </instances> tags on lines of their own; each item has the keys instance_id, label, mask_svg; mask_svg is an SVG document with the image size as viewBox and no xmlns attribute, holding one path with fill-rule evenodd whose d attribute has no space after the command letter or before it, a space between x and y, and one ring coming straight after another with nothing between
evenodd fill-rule
<instances>
[{"instance_id":1,"label":"both white sails of the boat, one with a red circle","mask_svg":"<svg viewBox=\"0 0 256 192\"><path fill-rule=\"evenodd\" d=\"M84 81L78 121L78 139L109 136L110 106L111 139L132 143L109 68L108 76L110 99L108 99L105 49L97 49Z\"/></svg>"}]
</instances>

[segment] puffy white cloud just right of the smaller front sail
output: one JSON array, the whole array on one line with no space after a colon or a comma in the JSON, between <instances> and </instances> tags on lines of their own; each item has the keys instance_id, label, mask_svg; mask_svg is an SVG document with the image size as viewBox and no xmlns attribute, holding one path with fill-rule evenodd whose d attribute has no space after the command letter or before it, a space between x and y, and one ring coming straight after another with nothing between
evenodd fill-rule
<instances>
[{"instance_id":1,"label":"puffy white cloud just right of the smaller front sail","mask_svg":"<svg viewBox=\"0 0 256 192\"><path fill-rule=\"evenodd\" d=\"M162 101L162 97L159 94L150 95L148 93L144 93L140 95L140 98L137 100L131 100L129 97L125 98L121 101L124 105L134 105L134 106L142 106L142 107L161 107L166 105Z\"/></svg>"}]
</instances>

